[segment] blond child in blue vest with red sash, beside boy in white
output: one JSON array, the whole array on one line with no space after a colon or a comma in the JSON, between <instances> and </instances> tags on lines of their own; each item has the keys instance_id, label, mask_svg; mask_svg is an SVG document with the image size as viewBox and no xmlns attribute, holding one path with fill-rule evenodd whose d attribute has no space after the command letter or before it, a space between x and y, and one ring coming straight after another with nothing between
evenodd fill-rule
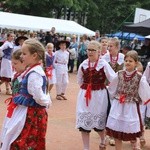
<instances>
[{"instance_id":1,"label":"blond child in blue vest with red sash, beside boy in white","mask_svg":"<svg viewBox=\"0 0 150 150\"><path fill-rule=\"evenodd\" d=\"M48 43L46 46L46 76L48 78L48 91L50 92L53 85L56 83L55 68L53 65L54 61L54 45L53 43Z\"/></svg>"}]
</instances>

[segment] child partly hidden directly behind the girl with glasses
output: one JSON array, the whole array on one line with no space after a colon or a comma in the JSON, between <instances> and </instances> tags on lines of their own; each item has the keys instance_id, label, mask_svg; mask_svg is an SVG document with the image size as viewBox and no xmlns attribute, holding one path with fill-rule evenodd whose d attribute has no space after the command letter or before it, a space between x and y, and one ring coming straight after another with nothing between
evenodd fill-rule
<instances>
[{"instance_id":1,"label":"child partly hidden directly behind the girl with glasses","mask_svg":"<svg viewBox=\"0 0 150 150\"><path fill-rule=\"evenodd\" d=\"M109 54L108 51L108 38L107 37L101 37L101 56L105 55L105 54Z\"/></svg>"}]
</instances>

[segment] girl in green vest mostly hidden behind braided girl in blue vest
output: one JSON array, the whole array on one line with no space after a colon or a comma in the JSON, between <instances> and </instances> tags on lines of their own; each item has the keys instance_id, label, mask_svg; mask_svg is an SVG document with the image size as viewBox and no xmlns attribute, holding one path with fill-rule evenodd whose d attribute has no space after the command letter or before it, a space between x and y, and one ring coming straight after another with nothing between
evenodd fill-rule
<instances>
[{"instance_id":1,"label":"girl in green vest mostly hidden behind braided girl in blue vest","mask_svg":"<svg viewBox=\"0 0 150 150\"><path fill-rule=\"evenodd\" d=\"M22 64L22 60L20 56L21 56L21 50L16 50L12 54L12 60L11 60L12 67L16 71L14 78L12 80L12 96L15 96L16 94L18 94L19 88L20 88L20 82L22 80L21 75L23 71L25 70L25 66ZM12 117L13 112L15 112L15 108L17 107L17 105L12 101L12 97L7 99L5 102L8 103L8 108L7 108L7 115L3 124L2 133L1 133L1 143L3 143L3 140L4 140L4 143L2 145L2 150L7 149L6 147L8 145L5 144L5 139L8 136L9 129L10 129L9 126L11 126L11 123L12 123L12 121L9 118Z\"/></svg>"}]
</instances>

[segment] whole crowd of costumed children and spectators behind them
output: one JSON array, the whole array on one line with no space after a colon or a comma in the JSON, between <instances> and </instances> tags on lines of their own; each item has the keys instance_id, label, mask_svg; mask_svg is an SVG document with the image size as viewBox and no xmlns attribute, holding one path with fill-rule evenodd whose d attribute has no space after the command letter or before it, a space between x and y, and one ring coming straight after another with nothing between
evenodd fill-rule
<instances>
[{"instance_id":1,"label":"whole crowd of costumed children and spectators behind them","mask_svg":"<svg viewBox=\"0 0 150 150\"><path fill-rule=\"evenodd\" d=\"M141 49L136 43L120 46L118 38L84 34L59 36L55 28L45 36L7 34L0 46L1 84L5 83L7 114L1 132L2 150L45 150L47 109L51 89L56 99L67 100L68 73L76 64L80 86L76 107L76 128L81 132L83 149L90 149L90 132L99 137L99 149L110 145L122 149L130 141L133 150L146 144L145 127L150 129L150 40ZM143 55L144 54L144 55ZM140 62L141 60L141 62ZM140 139L140 145L138 143Z\"/></svg>"}]
</instances>

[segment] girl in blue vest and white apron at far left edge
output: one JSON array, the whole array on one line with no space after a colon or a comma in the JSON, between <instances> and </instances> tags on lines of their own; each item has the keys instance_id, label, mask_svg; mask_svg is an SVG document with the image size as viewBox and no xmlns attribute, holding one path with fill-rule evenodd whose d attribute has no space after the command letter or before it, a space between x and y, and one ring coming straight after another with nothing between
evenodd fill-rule
<instances>
[{"instance_id":1,"label":"girl in blue vest and white apron at far left edge","mask_svg":"<svg viewBox=\"0 0 150 150\"><path fill-rule=\"evenodd\" d=\"M2 62L1 62L1 82L5 82L6 85L6 94L11 94L10 92L10 82L13 76L12 73L12 64L11 64L11 54L13 51L13 39L14 35L12 33L7 34L7 41L0 47L0 53L3 53Z\"/></svg>"}]
</instances>

